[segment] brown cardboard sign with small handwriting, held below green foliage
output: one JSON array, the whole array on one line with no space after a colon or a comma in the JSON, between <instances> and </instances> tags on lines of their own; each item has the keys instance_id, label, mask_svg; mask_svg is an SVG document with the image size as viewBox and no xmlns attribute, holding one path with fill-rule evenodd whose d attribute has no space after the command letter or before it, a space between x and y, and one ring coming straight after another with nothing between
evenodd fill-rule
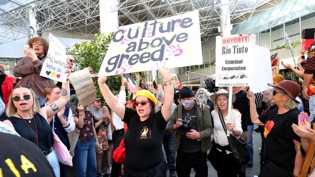
<instances>
[{"instance_id":1,"label":"brown cardboard sign with small handwriting, held below green foliage","mask_svg":"<svg viewBox=\"0 0 315 177\"><path fill-rule=\"evenodd\" d=\"M76 90L76 94L78 95L78 99L81 105L86 106L96 100L97 95L94 87L94 82L88 69L71 73L69 78L72 86Z\"/></svg>"}]
</instances>

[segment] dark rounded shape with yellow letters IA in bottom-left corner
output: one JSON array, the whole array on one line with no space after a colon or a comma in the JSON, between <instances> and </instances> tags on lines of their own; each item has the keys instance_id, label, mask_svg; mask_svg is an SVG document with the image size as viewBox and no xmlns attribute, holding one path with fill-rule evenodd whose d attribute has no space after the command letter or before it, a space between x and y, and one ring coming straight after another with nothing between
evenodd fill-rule
<instances>
[{"instance_id":1,"label":"dark rounded shape with yellow letters IA in bottom-left corner","mask_svg":"<svg viewBox=\"0 0 315 177\"><path fill-rule=\"evenodd\" d=\"M40 148L17 135L0 132L0 176L55 177Z\"/></svg>"}]
</instances>

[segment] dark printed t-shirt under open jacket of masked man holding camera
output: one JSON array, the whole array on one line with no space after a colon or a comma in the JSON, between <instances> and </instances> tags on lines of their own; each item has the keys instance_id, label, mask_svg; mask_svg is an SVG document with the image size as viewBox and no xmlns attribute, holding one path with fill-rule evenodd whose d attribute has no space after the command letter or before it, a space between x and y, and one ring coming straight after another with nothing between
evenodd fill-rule
<instances>
[{"instance_id":1,"label":"dark printed t-shirt under open jacket of masked man holding camera","mask_svg":"<svg viewBox=\"0 0 315 177\"><path fill-rule=\"evenodd\" d=\"M197 116L195 109L192 108L190 110L184 110L184 114L182 116L182 120L189 121L193 129L198 132L198 127L197 127ZM179 149L180 151L186 152L186 153L193 153L193 152L198 152L201 150L201 142L197 141L195 139L190 139L188 138L185 134L180 135L180 145Z\"/></svg>"}]
</instances>

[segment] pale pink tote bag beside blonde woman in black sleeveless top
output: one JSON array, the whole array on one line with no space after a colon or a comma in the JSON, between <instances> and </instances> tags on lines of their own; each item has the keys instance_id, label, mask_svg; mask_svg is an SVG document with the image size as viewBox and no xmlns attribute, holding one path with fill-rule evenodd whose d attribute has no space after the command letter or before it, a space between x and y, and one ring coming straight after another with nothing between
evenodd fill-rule
<instances>
[{"instance_id":1,"label":"pale pink tote bag beside blonde woman in black sleeveless top","mask_svg":"<svg viewBox=\"0 0 315 177\"><path fill-rule=\"evenodd\" d=\"M56 151L58 161L65 165L72 166L72 157L67 147L64 146L63 142L61 142L61 140L59 139L56 133L54 132L52 133L54 135L54 140L55 140L53 148Z\"/></svg>"}]
</instances>

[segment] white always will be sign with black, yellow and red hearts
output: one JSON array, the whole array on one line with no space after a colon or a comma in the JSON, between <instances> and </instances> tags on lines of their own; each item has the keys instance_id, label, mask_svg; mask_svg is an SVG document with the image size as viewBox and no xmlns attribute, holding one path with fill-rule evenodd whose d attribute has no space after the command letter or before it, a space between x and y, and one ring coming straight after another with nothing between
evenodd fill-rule
<instances>
[{"instance_id":1,"label":"white always will be sign with black, yellow and red hearts","mask_svg":"<svg viewBox=\"0 0 315 177\"><path fill-rule=\"evenodd\" d=\"M49 33L49 48L47 57L43 63L40 76L65 83L67 80L66 70L67 56L65 47L61 42Z\"/></svg>"}]
</instances>

